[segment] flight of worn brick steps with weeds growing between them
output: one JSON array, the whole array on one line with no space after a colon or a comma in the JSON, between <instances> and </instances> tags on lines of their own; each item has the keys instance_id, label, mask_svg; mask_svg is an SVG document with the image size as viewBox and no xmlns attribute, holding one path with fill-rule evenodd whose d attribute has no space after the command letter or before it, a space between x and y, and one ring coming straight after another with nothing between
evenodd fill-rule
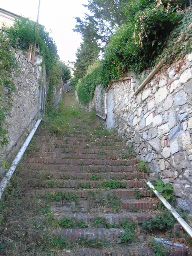
<instances>
[{"instance_id":1,"label":"flight of worn brick steps with weeds growing between them","mask_svg":"<svg viewBox=\"0 0 192 256\"><path fill-rule=\"evenodd\" d=\"M97 131L100 136L94 135L94 131L81 127L63 137L44 134L39 128L35 151L24 159L27 172L23 177L23 184L28 187L26 198L51 208L52 217L46 219L50 228L45 228L43 234L51 232L52 237L68 242L84 239L87 243L111 244L102 249L79 245L73 250L58 250L54 255L154 255L140 233L139 224L153 218L157 199L150 197L145 185L148 174L141 172L137 160L122 159L126 151L122 139L112 133L104 136L103 130ZM137 244L130 248L122 239L125 222L137 226ZM181 248L172 255L188 254Z\"/></svg>"}]
</instances>

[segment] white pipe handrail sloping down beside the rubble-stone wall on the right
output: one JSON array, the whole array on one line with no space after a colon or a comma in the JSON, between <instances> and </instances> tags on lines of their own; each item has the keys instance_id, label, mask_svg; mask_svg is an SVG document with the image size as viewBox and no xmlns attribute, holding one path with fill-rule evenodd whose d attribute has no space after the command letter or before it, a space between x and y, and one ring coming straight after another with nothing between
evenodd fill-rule
<instances>
[{"instance_id":1,"label":"white pipe handrail sloping down beside the rubble-stone wall on the right","mask_svg":"<svg viewBox=\"0 0 192 256\"><path fill-rule=\"evenodd\" d=\"M154 189L154 186L151 184L151 182L147 182L147 185ZM161 195L157 190L153 190L154 194L157 195L157 197L160 199L160 201L164 204L164 206L172 213L172 215L176 218L176 220L179 222L179 224L183 227L183 229L186 231L186 233L189 234L189 236L192 238L192 228L186 223L186 221L181 218L181 216L175 211L175 209L171 206L171 204L166 201L166 199Z\"/></svg>"}]
</instances>

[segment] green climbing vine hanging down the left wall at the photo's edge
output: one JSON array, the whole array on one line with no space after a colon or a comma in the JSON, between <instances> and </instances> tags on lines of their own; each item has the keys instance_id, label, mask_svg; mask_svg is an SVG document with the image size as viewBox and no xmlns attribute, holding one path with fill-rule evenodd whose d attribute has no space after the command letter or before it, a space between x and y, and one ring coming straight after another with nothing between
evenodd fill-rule
<instances>
[{"instance_id":1,"label":"green climbing vine hanging down the left wall at the photo's edge","mask_svg":"<svg viewBox=\"0 0 192 256\"><path fill-rule=\"evenodd\" d=\"M5 125L6 118L10 115L12 107L12 93L15 85L12 72L17 73L15 53L2 32L0 32L0 145L8 143Z\"/></svg>"}]
</instances>

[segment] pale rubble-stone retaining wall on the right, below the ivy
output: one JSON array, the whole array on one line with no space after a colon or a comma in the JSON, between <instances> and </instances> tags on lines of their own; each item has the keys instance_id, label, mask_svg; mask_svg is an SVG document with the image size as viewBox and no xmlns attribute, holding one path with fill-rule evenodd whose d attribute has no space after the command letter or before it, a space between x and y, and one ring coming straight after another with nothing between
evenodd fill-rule
<instances>
[{"instance_id":1,"label":"pale rubble-stone retaining wall on the right, below the ivy","mask_svg":"<svg viewBox=\"0 0 192 256\"><path fill-rule=\"evenodd\" d=\"M192 53L161 68L136 96L138 80L134 80L133 90L130 80L113 82L107 95L106 126L117 128L127 145L134 145L137 156L149 163L151 177L173 184L178 205L190 211L192 186L122 119L192 180ZM98 85L87 107L103 112L104 96L105 90Z\"/></svg>"}]
</instances>

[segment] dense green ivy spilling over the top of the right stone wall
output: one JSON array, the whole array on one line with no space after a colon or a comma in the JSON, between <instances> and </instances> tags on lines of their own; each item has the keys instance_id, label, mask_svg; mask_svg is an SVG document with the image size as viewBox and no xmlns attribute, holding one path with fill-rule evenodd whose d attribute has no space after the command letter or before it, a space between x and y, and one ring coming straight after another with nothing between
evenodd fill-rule
<instances>
[{"instance_id":1,"label":"dense green ivy spilling over the top of the right stone wall","mask_svg":"<svg viewBox=\"0 0 192 256\"><path fill-rule=\"evenodd\" d=\"M141 75L147 76L163 56L168 63L191 52L192 29L186 29L192 22L192 7L184 7L184 1L175 0L129 1L122 10L127 19L108 39L100 67L78 81L79 100L87 104L93 99L96 84L106 88L128 71L142 82ZM183 40L175 44L181 34Z\"/></svg>"}]
</instances>

